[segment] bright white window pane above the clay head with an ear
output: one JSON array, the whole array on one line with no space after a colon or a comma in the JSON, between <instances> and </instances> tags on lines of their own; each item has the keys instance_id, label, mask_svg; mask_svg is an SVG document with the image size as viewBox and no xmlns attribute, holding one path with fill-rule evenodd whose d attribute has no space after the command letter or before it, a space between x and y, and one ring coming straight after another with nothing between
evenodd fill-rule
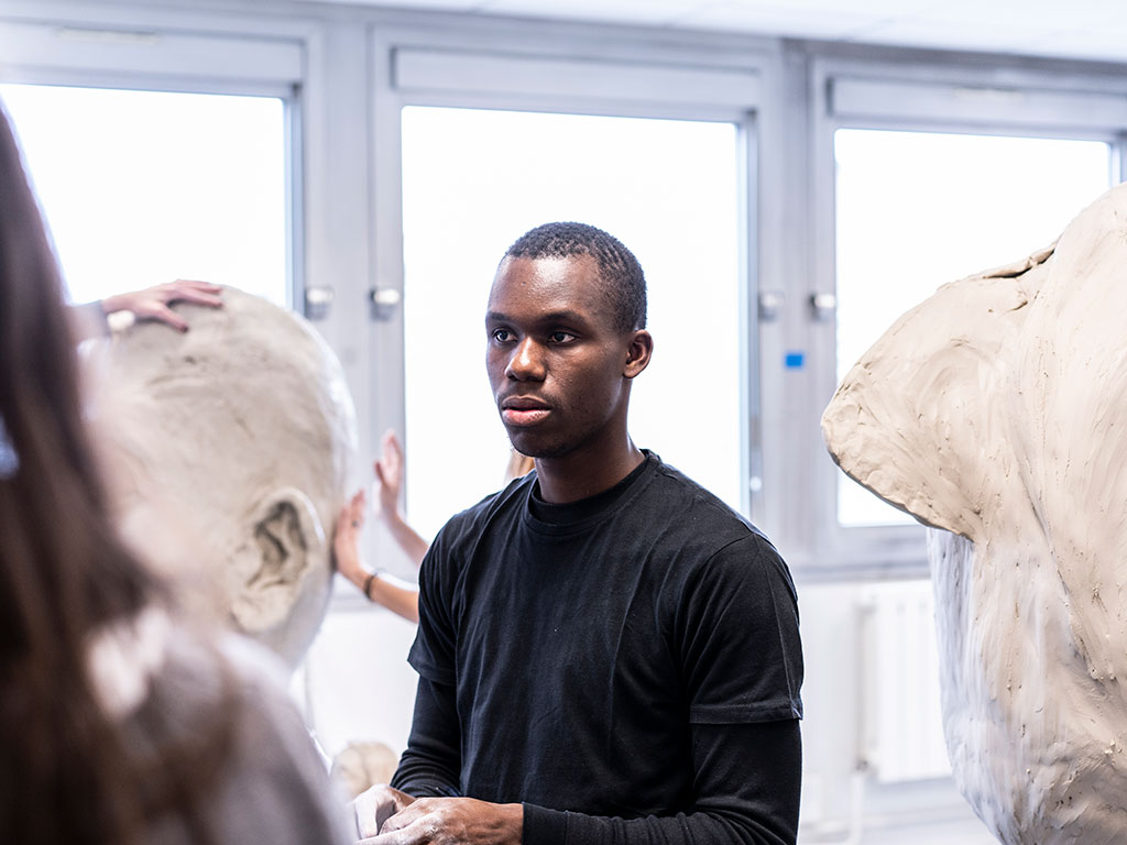
<instances>
[{"instance_id":1,"label":"bright white window pane above the clay head with an ear","mask_svg":"<svg viewBox=\"0 0 1127 845\"><path fill-rule=\"evenodd\" d=\"M174 278L285 305L284 104L0 86L71 300Z\"/></svg>"}]
</instances>

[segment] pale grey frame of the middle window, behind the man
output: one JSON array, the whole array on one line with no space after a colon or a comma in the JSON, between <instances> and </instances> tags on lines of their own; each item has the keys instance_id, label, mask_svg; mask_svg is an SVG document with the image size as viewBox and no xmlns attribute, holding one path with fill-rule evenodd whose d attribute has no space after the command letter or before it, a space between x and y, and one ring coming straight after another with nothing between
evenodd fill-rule
<instances>
[{"instance_id":1,"label":"pale grey frame of the middle window, behind the man","mask_svg":"<svg viewBox=\"0 0 1127 845\"><path fill-rule=\"evenodd\" d=\"M764 518L757 301L757 141L763 108L763 55L733 51L669 51L629 38L607 44L588 26L562 25L545 39L541 27L490 24L482 33L374 28L375 188L378 286L402 296L401 112L406 106L526 110L578 115L718 121L738 127L740 155L740 488L745 514ZM520 44L520 50L513 45ZM396 174L396 178L391 178ZM393 416L374 419L370 436L406 432L402 310L376 332L381 362L376 407ZM735 460L735 456L734 456ZM752 479L756 479L752 482Z\"/></svg>"}]
</instances>

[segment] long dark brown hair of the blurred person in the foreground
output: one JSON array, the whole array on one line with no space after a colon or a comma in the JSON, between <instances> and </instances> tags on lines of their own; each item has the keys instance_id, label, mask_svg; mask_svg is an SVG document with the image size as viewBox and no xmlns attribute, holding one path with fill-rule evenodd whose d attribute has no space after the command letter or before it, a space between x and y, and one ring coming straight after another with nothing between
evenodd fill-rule
<instances>
[{"instance_id":1,"label":"long dark brown hair of the blurred person in the foreground","mask_svg":"<svg viewBox=\"0 0 1127 845\"><path fill-rule=\"evenodd\" d=\"M59 267L0 109L0 840L134 843L169 815L207 839L230 694L185 738L159 683L125 726L91 676L92 637L169 599L114 528L77 371Z\"/></svg>"}]
</instances>

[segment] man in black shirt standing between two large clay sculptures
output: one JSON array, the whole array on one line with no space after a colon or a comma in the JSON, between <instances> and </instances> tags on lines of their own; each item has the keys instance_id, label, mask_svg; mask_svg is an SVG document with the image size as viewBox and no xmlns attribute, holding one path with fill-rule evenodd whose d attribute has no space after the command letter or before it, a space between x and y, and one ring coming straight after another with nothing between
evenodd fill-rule
<instances>
[{"instance_id":1,"label":"man in black shirt standing between two large clay sculptures","mask_svg":"<svg viewBox=\"0 0 1127 845\"><path fill-rule=\"evenodd\" d=\"M380 845L793 843L795 588L743 517L627 433L641 268L553 223L498 267L487 368L536 469L453 517L420 575L415 721Z\"/></svg>"}]
</instances>

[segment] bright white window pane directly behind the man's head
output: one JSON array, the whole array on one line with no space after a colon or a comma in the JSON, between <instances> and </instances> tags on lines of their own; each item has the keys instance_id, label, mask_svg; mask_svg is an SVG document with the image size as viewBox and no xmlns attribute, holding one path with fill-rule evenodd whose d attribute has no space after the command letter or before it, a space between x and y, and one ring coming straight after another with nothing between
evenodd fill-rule
<instances>
[{"instance_id":1,"label":"bright white window pane directly behind the man's head","mask_svg":"<svg viewBox=\"0 0 1127 845\"><path fill-rule=\"evenodd\" d=\"M499 489L508 439L485 370L502 254L575 220L621 239L649 285L641 447L739 506L737 127L403 109L408 512L424 534Z\"/></svg>"}]
</instances>

